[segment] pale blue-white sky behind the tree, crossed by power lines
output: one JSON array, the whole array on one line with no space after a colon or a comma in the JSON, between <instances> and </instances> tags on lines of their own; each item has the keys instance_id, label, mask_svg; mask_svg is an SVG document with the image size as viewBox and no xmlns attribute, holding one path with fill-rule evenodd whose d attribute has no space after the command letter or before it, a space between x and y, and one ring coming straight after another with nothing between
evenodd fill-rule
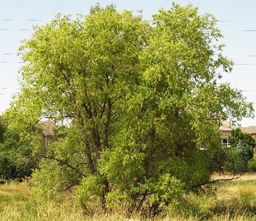
<instances>
[{"instance_id":1,"label":"pale blue-white sky behind the tree, crossed by power lines","mask_svg":"<svg viewBox=\"0 0 256 221\"><path fill-rule=\"evenodd\" d=\"M57 13L61 15L88 14L97 2L102 7L113 3L118 11L142 10L144 19L150 20L160 7L170 9L167 0L9 0L0 7L0 114L4 112L13 94L18 93L18 70L22 60L16 55L23 39L30 38L32 26L50 22ZM256 110L256 1L255 0L177 0L175 3L192 3L199 14L213 14L218 20L226 44L223 55L233 60L232 73L224 73L222 81L242 90ZM255 112L256 116L256 112ZM255 119L243 119L242 127L256 126Z\"/></svg>"}]
</instances>

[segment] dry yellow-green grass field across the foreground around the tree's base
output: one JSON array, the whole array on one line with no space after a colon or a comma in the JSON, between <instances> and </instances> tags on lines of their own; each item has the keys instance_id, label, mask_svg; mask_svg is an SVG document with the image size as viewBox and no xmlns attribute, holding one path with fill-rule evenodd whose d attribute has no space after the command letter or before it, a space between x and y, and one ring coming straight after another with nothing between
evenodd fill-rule
<instances>
[{"instance_id":1,"label":"dry yellow-green grass field across the foreground around the tree's base","mask_svg":"<svg viewBox=\"0 0 256 221\"><path fill-rule=\"evenodd\" d=\"M214 177L218 178L218 177ZM223 178L223 177L222 177ZM227 178L227 177L225 177ZM256 175L217 184L216 194L188 195L191 207L154 220L256 220ZM0 220L149 220L139 215L86 215L73 199L45 201L26 182L0 185Z\"/></svg>"}]
</instances>

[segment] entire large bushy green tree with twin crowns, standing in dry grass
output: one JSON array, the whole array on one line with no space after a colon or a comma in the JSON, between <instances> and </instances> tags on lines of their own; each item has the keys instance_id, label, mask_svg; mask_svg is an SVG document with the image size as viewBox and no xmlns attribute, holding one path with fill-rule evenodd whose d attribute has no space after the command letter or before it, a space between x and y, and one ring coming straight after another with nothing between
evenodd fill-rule
<instances>
[{"instance_id":1,"label":"entire large bushy green tree with twin crowns, standing in dry grass","mask_svg":"<svg viewBox=\"0 0 256 221\"><path fill-rule=\"evenodd\" d=\"M253 116L220 81L233 65L221 37L212 15L175 3L150 21L97 4L35 27L7 115L23 139L42 119L56 125L46 148L31 139L38 193L155 215L209 184L222 120Z\"/></svg>"}]
</instances>

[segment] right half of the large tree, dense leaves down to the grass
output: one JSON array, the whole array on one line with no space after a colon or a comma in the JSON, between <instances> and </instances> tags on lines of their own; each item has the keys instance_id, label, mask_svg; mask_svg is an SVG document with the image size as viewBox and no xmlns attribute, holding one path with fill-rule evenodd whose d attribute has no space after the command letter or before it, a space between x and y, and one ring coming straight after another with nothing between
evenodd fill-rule
<instances>
[{"instance_id":1,"label":"right half of the large tree, dense leaves down to the grass","mask_svg":"<svg viewBox=\"0 0 256 221\"><path fill-rule=\"evenodd\" d=\"M102 153L101 171L115 187L109 194L113 205L128 198L131 208L148 205L154 214L175 199L163 195L172 185L158 185L163 177L175 177L187 191L206 184L208 162L220 148L221 119L239 119L251 110L240 91L217 84L217 69L228 71L231 62L220 54L213 58L221 49L213 44L221 36L215 22L191 5L153 16L140 57L141 84L127 101L116 145Z\"/></svg>"}]
</instances>

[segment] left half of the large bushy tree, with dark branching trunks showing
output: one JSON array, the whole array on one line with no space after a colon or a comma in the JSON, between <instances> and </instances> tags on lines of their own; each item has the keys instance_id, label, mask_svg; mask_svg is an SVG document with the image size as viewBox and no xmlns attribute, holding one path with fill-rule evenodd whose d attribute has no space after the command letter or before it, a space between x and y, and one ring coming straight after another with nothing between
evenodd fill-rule
<instances>
[{"instance_id":1,"label":"left half of the large bushy tree, with dark branching trunks showing","mask_svg":"<svg viewBox=\"0 0 256 221\"><path fill-rule=\"evenodd\" d=\"M26 131L43 117L68 125L59 140L38 153L57 162L55 176L66 180L63 189L96 177L89 181L97 180L90 184L94 189L103 186L101 193L97 191L102 207L109 182L100 173L98 160L103 149L111 148L125 97L138 84L138 57L149 31L147 22L131 11L96 5L90 15L72 22L69 16L57 15L46 26L36 27L20 47L26 65L20 70L21 93L8 112L10 119L15 118L13 127ZM26 124L21 123L24 119ZM72 170L69 177L63 173L67 169Z\"/></svg>"}]
</instances>

